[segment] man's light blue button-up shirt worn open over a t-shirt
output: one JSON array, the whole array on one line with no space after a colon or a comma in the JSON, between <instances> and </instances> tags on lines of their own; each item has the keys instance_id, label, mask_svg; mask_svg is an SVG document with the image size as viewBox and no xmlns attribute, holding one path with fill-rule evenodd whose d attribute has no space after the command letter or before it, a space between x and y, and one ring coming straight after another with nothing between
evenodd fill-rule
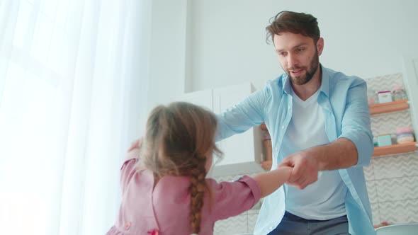
<instances>
[{"instance_id":1,"label":"man's light blue button-up shirt worn open over a t-shirt","mask_svg":"<svg viewBox=\"0 0 418 235\"><path fill-rule=\"evenodd\" d=\"M268 81L264 89L252 93L244 101L217 115L217 139L245 132L265 122L272 137L272 168L276 168L283 136L292 118L293 101L290 89L287 74L282 74L277 79ZM317 101L324 111L325 132L329 142L338 138L350 139L356 145L358 153L356 166L339 170L341 179L349 189L345 198L349 233L375 234L363 173L363 166L370 163L373 154L366 81L322 67L322 84ZM285 208L285 193L281 187L264 198L254 234L264 235L275 229L283 218Z\"/></svg>"}]
</instances>

